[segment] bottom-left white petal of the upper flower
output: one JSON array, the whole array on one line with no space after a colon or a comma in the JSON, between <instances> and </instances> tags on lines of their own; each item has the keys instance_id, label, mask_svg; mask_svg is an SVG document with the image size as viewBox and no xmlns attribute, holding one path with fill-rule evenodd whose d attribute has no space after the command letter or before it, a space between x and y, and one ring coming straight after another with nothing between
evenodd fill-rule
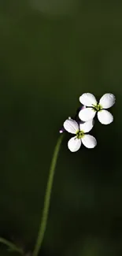
<instances>
[{"instance_id":1,"label":"bottom-left white petal of the upper flower","mask_svg":"<svg viewBox=\"0 0 122 256\"><path fill-rule=\"evenodd\" d=\"M92 108L86 108L79 111L81 121L89 121L94 118L96 111Z\"/></svg>"}]
</instances>

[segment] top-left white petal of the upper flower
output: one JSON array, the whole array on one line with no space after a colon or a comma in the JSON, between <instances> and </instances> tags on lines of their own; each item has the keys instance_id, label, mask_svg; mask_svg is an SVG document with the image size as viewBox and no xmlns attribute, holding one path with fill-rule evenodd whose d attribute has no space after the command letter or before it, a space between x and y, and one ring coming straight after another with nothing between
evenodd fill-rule
<instances>
[{"instance_id":1,"label":"top-left white petal of the upper flower","mask_svg":"<svg viewBox=\"0 0 122 256\"><path fill-rule=\"evenodd\" d=\"M84 106L92 106L97 103L96 98L91 93L83 93L83 95L79 97L79 102Z\"/></svg>"}]
</instances>

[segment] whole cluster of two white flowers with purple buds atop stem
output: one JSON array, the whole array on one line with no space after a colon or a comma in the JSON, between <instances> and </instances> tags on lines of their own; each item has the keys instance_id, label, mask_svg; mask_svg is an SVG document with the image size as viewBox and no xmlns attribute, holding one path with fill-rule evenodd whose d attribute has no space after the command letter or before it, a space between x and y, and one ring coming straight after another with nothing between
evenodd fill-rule
<instances>
[{"instance_id":1,"label":"whole cluster of two white flowers with purple buds atop stem","mask_svg":"<svg viewBox=\"0 0 122 256\"><path fill-rule=\"evenodd\" d=\"M87 134L94 126L94 117L97 113L98 121L102 124L110 124L113 122L113 115L108 110L115 103L115 96L106 93L97 102L94 95L91 93L84 93L79 97L82 107L79 109L78 120L77 115L75 118L68 117L64 122L64 127L60 132L70 132L74 134L68 141L68 149L76 152L81 147L81 144L87 148L94 148L97 145L97 140L94 136Z\"/></svg>"}]
</instances>

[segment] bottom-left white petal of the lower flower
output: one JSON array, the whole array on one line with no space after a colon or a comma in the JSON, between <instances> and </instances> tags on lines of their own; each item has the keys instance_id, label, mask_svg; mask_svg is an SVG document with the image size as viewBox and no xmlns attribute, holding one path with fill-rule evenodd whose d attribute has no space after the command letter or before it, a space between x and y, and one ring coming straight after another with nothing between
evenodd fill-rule
<instances>
[{"instance_id":1,"label":"bottom-left white petal of the lower flower","mask_svg":"<svg viewBox=\"0 0 122 256\"><path fill-rule=\"evenodd\" d=\"M68 149L72 152L79 150L81 146L81 139L77 139L76 136L68 140Z\"/></svg>"}]
</instances>

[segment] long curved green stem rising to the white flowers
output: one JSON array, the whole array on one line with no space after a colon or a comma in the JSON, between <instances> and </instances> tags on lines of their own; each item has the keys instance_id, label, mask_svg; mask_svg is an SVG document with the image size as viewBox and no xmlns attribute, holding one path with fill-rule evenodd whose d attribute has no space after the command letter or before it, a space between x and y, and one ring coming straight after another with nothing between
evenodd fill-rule
<instances>
[{"instance_id":1,"label":"long curved green stem rising to the white flowers","mask_svg":"<svg viewBox=\"0 0 122 256\"><path fill-rule=\"evenodd\" d=\"M54 180L54 170L57 164L57 156L59 153L59 149L61 146L61 141L62 141L63 135L57 140L56 147L54 149L54 155L51 161L50 165L50 173L49 173L49 178L47 181L46 185L46 194L44 198L44 206L43 206L43 217L40 223L40 228L39 228L39 234L35 243L35 249L33 251L32 256L38 256L39 250L41 248L41 245L43 243L43 237L44 233L46 231L46 223L47 223L47 217L49 213L49 207L50 207L50 195L51 195L51 190L52 190L52 185L53 185L53 180Z\"/></svg>"}]
</instances>

